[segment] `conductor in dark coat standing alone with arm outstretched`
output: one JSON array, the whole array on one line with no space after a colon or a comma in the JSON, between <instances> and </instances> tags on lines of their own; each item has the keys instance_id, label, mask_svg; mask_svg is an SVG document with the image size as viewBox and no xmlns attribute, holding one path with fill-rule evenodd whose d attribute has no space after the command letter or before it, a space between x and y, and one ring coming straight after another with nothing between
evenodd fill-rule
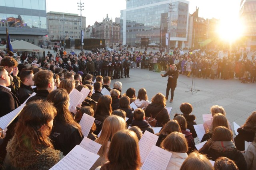
<instances>
[{"instance_id":1,"label":"conductor in dark coat standing alone with arm outstretched","mask_svg":"<svg viewBox=\"0 0 256 170\"><path fill-rule=\"evenodd\" d=\"M179 71L175 64L170 66L170 69L165 74L161 74L162 77L168 76L168 83L166 88L166 96L165 98L168 99L169 91L171 90L171 100L170 103L173 101L174 90L177 87L177 79L179 77Z\"/></svg>"}]
</instances>

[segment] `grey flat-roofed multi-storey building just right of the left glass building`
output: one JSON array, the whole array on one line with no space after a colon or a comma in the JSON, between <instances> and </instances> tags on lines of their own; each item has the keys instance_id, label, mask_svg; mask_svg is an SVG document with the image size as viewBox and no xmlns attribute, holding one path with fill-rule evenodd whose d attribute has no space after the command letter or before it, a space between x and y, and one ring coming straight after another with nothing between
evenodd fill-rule
<instances>
[{"instance_id":1,"label":"grey flat-roofed multi-storey building just right of the left glass building","mask_svg":"<svg viewBox=\"0 0 256 170\"><path fill-rule=\"evenodd\" d=\"M81 23L78 14L47 12L48 41L81 39ZM86 29L86 17L82 17L82 30Z\"/></svg>"}]
</instances>

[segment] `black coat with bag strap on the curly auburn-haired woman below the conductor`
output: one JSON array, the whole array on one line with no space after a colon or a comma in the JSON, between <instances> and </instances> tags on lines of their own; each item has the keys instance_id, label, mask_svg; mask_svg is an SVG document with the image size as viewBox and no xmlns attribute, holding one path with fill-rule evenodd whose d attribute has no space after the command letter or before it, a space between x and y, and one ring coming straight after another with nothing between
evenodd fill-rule
<instances>
[{"instance_id":1,"label":"black coat with bag strap on the curly auburn-haired woman below the conductor","mask_svg":"<svg viewBox=\"0 0 256 170\"><path fill-rule=\"evenodd\" d=\"M161 112L159 113L159 111ZM152 115L152 118L155 118L157 120L158 127L163 127L170 120L169 113L167 109L164 108L164 106L149 104L148 107L146 107L145 116L151 117L151 115Z\"/></svg>"}]
</instances>

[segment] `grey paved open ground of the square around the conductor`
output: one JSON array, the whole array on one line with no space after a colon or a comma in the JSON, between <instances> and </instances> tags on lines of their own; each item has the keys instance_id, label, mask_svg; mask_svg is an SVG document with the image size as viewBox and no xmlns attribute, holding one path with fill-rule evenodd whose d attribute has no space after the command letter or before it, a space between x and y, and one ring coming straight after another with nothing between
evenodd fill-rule
<instances>
[{"instance_id":1,"label":"grey paved open ground of the square around the conductor","mask_svg":"<svg viewBox=\"0 0 256 170\"><path fill-rule=\"evenodd\" d=\"M152 72L140 68L130 69L131 78L122 78L112 80L110 87L113 88L115 81L122 82L122 94L130 87L135 88L136 95L140 88L147 90L148 99L158 92L166 93L168 77L162 78L161 72ZM163 73L164 74L164 73ZM226 117L230 123L235 121L238 125L244 124L247 117L256 111L256 83L243 84L239 80L222 80L222 79L202 79L195 78L192 90L197 91L185 92L191 89L192 77L188 78L179 75L177 88L174 92L174 102L166 102L166 107L172 107L170 118L173 119L175 113L180 112L180 104L189 102L194 107L192 114L196 115L196 123L202 124L202 114L209 114L210 107L213 105L223 106L226 111ZM198 143L198 139L196 139Z\"/></svg>"}]
</instances>

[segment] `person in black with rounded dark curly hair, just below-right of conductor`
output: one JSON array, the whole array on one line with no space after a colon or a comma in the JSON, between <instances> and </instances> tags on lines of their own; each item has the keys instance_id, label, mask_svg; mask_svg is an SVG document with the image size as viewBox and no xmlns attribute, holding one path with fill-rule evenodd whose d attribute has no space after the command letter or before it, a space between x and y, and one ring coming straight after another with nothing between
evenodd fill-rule
<instances>
[{"instance_id":1,"label":"person in black with rounded dark curly hair, just below-right of conductor","mask_svg":"<svg viewBox=\"0 0 256 170\"><path fill-rule=\"evenodd\" d=\"M180 111L183 113L182 116L184 116L187 121L187 128L190 130L190 133L192 133L193 138L196 138L197 134L194 128L194 125L196 125L196 116L190 114L193 111L192 105L190 103L182 103L180 105ZM176 113L174 117L176 117L177 115L179 114Z\"/></svg>"}]
</instances>

